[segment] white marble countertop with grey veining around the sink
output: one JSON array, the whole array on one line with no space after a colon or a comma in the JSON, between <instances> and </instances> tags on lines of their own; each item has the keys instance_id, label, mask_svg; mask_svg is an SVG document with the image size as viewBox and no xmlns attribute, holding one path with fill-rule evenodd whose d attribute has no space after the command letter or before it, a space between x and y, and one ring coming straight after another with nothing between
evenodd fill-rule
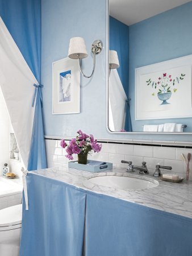
<instances>
[{"instance_id":1,"label":"white marble countertop with grey veining around the sink","mask_svg":"<svg viewBox=\"0 0 192 256\"><path fill-rule=\"evenodd\" d=\"M87 179L93 176L113 175L112 172L118 176L126 175L131 177L133 175L137 175L141 179L145 179L145 177L147 179L155 179L159 182L159 185L149 189L129 190L95 185L87 181ZM110 171L97 172L93 174L91 172L80 171L68 167L54 167L34 171L32 173L60 180L76 187L83 188L87 191L93 191L95 193L144 205L145 207L151 207L192 218L192 181L183 180L181 183L170 183L162 181L151 175L139 175L139 172L135 172L133 175L127 174L126 168L114 168Z\"/></svg>"}]
</instances>

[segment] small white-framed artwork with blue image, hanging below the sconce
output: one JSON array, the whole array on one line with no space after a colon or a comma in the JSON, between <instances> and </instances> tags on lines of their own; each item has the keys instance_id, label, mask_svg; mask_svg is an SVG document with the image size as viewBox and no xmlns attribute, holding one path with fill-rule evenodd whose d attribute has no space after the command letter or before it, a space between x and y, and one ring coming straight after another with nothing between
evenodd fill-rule
<instances>
[{"instance_id":1,"label":"small white-framed artwork with blue image, hanging below the sconce","mask_svg":"<svg viewBox=\"0 0 192 256\"><path fill-rule=\"evenodd\" d=\"M80 113L78 61L66 57L52 64L52 113Z\"/></svg>"}]
</instances>

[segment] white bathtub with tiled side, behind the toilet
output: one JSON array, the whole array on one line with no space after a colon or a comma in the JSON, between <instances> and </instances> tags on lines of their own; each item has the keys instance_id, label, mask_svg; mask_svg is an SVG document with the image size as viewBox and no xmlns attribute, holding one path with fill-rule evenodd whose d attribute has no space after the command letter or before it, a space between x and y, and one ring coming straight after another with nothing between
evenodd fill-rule
<instances>
[{"instance_id":1,"label":"white bathtub with tiled side, behind the toilet","mask_svg":"<svg viewBox=\"0 0 192 256\"><path fill-rule=\"evenodd\" d=\"M22 203L22 181L0 176L0 210Z\"/></svg>"}]
</instances>

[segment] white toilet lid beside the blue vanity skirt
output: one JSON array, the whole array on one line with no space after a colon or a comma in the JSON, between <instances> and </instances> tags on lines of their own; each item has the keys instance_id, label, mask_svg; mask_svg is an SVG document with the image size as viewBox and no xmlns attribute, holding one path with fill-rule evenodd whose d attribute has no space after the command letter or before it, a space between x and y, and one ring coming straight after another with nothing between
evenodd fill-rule
<instances>
[{"instance_id":1,"label":"white toilet lid beside the blue vanity skirt","mask_svg":"<svg viewBox=\"0 0 192 256\"><path fill-rule=\"evenodd\" d=\"M22 223L22 204L0 210L0 227Z\"/></svg>"}]
</instances>

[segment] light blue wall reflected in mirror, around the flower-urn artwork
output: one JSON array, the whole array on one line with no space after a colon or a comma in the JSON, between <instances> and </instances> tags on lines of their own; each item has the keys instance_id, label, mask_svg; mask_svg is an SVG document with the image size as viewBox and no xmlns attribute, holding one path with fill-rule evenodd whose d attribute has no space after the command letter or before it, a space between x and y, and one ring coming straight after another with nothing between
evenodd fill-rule
<instances>
[{"instance_id":1,"label":"light blue wall reflected in mirror, around the flower-urn artwork","mask_svg":"<svg viewBox=\"0 0 192 256\"><path fill-rule=\"evenodd\" d=\"M135 121L135 68L192 54L192 2L130 26L129 94L133 131L144 124L179 122L192 130L192 118Z\"/></svg>"}]
</instances>

